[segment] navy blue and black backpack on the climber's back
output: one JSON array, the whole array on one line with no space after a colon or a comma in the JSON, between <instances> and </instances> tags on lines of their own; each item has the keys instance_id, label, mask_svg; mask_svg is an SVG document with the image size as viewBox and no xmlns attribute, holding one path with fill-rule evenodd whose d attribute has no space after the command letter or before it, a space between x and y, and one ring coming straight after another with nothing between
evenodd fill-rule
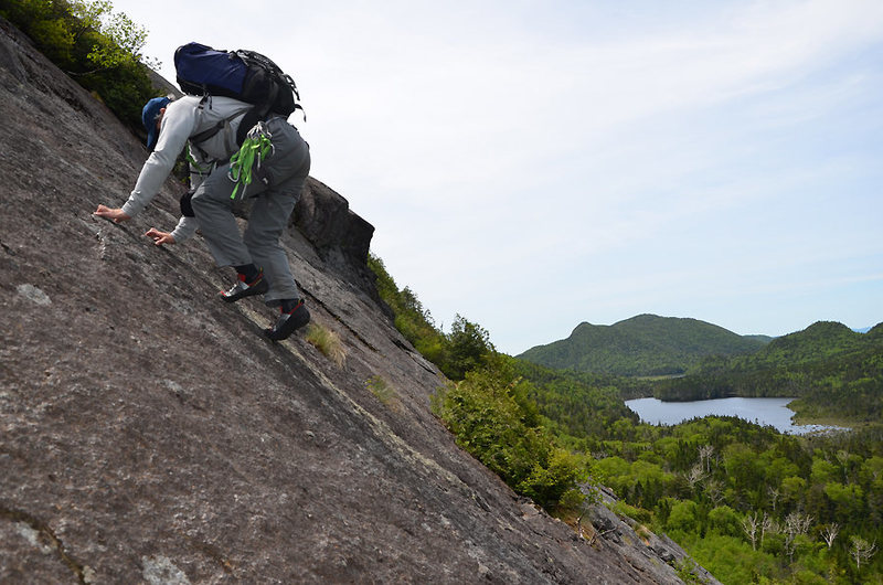
<instances>
[{"instance_id":1,"label":"navy blue and black backpack on the climber's back","mask_svg":"<svg viewBox=\"0 0 883 585\"><path fill-rule=\"evenodd\" d=\"M287 118L304 109L294 79L254 51L216 51L188 43L174 52L174 68L185 94L226 96L254 104L256 119L269 114Z\"/></svg>"}]
</instances>

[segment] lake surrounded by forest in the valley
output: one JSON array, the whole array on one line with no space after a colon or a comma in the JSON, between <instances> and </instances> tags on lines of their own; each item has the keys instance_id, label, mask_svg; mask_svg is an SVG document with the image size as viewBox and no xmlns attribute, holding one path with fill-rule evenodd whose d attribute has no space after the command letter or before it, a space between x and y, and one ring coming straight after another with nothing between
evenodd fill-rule
<instances>
[{"instance_id":1,"label":"lake surrounded by forest in the valley","mask_svg":"<svg viewBox=\"0 0 883 585\"><path fill-rule=\"evenodd\" d=\"M703 416L737 416L744 421L769 425L780 433L805 435L820 430L842 429L826 425L795 425L794 411L788 403L794 398L712 398L692 402L662 402L659 398L626 401L626 406L651 425L677 425Z\"/></svg>"}]
</instances>

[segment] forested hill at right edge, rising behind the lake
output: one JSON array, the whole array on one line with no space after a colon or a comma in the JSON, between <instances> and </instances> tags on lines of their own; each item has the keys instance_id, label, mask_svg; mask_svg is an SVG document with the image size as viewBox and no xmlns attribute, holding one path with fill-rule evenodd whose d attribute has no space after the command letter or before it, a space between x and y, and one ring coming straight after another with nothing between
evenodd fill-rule
<instances>
[{"instance_id":1,"label":"forested hill at right edge, rising behind the lake","mask_svg":"<svg viewBox=\"0 0 883 585\"><path fill-rule=\"evenodd\" d=\"M879 422L883 416L883 323L868 333L817 322L749 355L710 358L653 385L663 400L794 396L810 418Z\"/></svg>"}]
</instances>

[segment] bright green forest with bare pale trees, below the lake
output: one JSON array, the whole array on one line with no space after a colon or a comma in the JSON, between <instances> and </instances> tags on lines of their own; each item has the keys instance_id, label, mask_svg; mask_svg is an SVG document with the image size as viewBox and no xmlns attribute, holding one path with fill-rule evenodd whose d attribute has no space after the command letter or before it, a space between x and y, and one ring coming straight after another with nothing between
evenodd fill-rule
<instances>
[{"instance_id":1,"label":"bright green forest with bare pale trees, below the lake","mask_svg":"<svg viewBox=\"0 0 883 585\"><path fill-rule=\"evenodd\" d=\"M725 584L883 583L883 428L795 437L738 418L574 437L620 511Z\"/></svg>"}]
</instances>

